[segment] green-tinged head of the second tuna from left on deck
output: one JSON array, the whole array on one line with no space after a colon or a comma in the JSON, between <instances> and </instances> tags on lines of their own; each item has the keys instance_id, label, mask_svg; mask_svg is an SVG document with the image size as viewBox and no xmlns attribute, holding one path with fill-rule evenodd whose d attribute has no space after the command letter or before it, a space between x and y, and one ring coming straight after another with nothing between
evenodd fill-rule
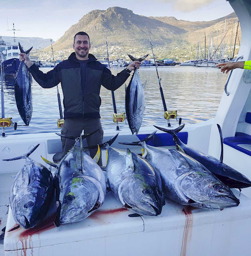
<instances>
[{"instance_id":1,"label":"green-tinged head of the second tuna from left on deck","mask_svg":"<svg viewBox=\"0 0 251 256\"><path fill-rule=\"evenodd\" d=\"M60 193L60 213L55 224L77 222L88 217L100 207L99 190L95 181L87 176L71 178L68 188ZM58 221L57 221L58 220Z\"/></svg>"}]
</instances>

